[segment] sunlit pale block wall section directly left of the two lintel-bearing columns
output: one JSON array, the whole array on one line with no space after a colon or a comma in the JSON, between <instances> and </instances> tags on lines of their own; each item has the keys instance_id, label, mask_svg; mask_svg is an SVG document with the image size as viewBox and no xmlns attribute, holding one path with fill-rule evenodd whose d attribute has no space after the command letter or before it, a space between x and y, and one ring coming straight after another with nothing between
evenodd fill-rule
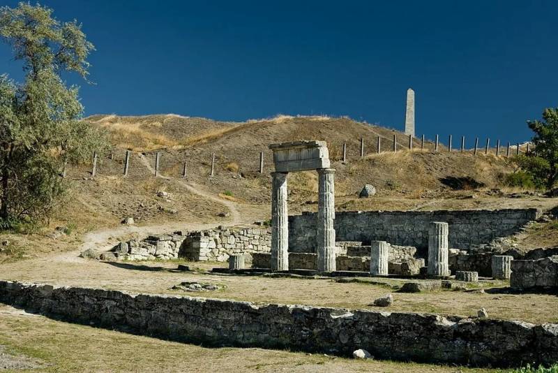
<instances>
[{"instance_id":1,"label":"sunlit pale block wall section directly left of the two lintel-bearing columns","mask_svg":"<svg viewBox=\"0 0 558 373\"><path fill-rule=\"evenodd\" d=\"M189 233L179 256L191 261L227 261L231 254L271 251L271 228L217 228ZM250 255L246 255L250 263Z\"/></svg>"}]
</instances>

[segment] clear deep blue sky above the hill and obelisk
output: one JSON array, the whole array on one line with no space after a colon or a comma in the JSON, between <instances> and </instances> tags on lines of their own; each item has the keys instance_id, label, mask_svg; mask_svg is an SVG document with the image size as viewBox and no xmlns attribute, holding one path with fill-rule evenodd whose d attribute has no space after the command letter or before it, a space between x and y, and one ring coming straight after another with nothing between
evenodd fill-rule
<instances>
[{"instance_id":1,"label":"clear deep blue sky above the hill and obelisk","mask_svg":"<svg viewBox=\"0 0 558 373\"><path fill-rule=\"evenodd\" d=\"M412 87L417 135L455 146L526 140L525 120L558 106L555 0L41 3L96 45L86 115L323 113L403 129ZM0 73L18 71L0 45Z\"/></svg>"}]
</instances>

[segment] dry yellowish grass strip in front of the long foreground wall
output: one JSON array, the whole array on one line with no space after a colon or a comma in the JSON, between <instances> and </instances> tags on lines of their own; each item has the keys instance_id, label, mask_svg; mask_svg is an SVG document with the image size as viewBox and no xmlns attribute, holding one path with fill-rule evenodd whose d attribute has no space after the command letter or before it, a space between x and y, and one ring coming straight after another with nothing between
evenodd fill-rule
<instances>
[{"instance_id":1,"label":"dry yellowish grass strip in front of the long foreground wall","mask_svg":"<svg viewBox=\"0 0 558 373\"><path fill-rule=\"evenodd\" d=\"M495 372L277 350L209 349L45 316L10 314L9 307L0 306L0 312L0 344L42 360L41 372Z\"/></svg>"}]
</instances>

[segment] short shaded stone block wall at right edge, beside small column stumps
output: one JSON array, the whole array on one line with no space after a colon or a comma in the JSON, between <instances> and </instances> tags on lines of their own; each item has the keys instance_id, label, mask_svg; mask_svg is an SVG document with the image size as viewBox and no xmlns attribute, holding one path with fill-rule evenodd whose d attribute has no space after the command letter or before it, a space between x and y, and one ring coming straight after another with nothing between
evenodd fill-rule
<instances>
[{"instance_id":1,"label":"short shaded stone block wall at right edge, beside small column stumps","mask_svg":"<svg viewBox=\"0 0 558 373\"><path fill-rule=\"evenodd\" d=\"M511 261L510 286L558 289L558 255L534 261Z\"/></svg>"}]
</instances>

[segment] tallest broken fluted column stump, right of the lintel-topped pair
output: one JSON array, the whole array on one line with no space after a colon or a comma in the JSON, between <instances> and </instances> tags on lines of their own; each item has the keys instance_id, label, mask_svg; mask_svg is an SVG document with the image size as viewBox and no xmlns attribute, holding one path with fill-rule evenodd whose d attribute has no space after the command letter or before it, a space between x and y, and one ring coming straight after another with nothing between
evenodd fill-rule
<instances>
[{"instance_id":1,"label":"tallest broken fluted column stump, right of the lintel-topped pair","mask_svg":"<svg viewBox=\"0 0 558 373\"><path fill-rule=\"evenodd\" d=\"M449 276L448 224L432 221L428 226L428 275Z\"/></svg>"}]
</instances>

